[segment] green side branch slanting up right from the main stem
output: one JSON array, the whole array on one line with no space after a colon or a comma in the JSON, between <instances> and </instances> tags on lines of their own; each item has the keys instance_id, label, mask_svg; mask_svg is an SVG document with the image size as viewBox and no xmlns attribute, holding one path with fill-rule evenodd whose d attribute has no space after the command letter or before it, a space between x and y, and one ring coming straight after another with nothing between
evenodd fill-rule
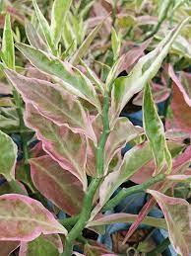
<instances>
[{"instance_id":1,"label":"green side branch slanting up right from the main stem","mask_svg":"<svg viewBox=\"0 0 191 256\"><path fill-rule=\"evenodd\" d=\"M151 187L152 185L160 181L163 181L164 179L165 179L165 174L159 174L158 176L151 178L149 181L143 184L136 185L128 189L122 189L114 198L112 198L107 202L107 204L103 207L102 211L112 210L126 197L135 193L143 192L147 190L149 187Z\"/></svg>"}]
</instances>

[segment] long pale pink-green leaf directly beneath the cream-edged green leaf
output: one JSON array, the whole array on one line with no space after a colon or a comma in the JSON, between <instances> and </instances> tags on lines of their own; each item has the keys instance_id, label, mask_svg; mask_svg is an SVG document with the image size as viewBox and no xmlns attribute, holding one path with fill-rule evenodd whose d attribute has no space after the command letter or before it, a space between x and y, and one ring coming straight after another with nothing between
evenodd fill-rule
<instances>
[{"instance_id":1,"label":"long pale pink-green leaf directly beneath the cream-edged green leaf","mask_svg":"<svg viewBox=\"0 0 191 256\"><path fill-rule=\"evenodd\" d=\"M6 69L5 73L26 103L31 102L37 110L58 126L67 126L75 132L85 133L96 141L89 117L81 103L57 84L28 78Z\"/></svg>"}]
</instances>

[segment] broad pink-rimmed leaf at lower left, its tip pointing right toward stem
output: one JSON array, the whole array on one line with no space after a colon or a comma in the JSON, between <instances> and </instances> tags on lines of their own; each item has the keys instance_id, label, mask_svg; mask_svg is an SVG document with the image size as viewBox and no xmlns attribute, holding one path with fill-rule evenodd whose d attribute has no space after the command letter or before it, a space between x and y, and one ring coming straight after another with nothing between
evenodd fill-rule
<instances>
[{"instance_id":1,"label":"broad pink-rimmed leaf at lower left, its tip pointing right toward stem","mask_svg":"<svg viewBox=\"0 0 191 256\"><path fill-rule=\"evenodd\" d=\"M0 240L32 241L41 233L63 233L67 230L41 203L17 194L0 196Z\"/></svg>"}]
</instances>

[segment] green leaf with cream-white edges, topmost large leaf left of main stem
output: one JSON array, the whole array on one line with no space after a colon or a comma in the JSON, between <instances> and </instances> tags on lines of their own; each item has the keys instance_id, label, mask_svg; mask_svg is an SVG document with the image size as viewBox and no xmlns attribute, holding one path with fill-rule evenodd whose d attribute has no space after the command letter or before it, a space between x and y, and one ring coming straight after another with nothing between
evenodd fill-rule
<instances>
[{"instance_id":1,"label":"green leaf with cream-white edges, topmost large leaf left of main stem","mask_svg":"<svg viewBox=\"0 0 191 256\"><path fill-rule=\"evenodd\" d=\"M89 101L100 110L94 85L79 69L25 43L17 43L16 46L30 59L32 65L47 74L53 75L53 79L59 82L68 92Z\"/></svg>"}]
</instances>

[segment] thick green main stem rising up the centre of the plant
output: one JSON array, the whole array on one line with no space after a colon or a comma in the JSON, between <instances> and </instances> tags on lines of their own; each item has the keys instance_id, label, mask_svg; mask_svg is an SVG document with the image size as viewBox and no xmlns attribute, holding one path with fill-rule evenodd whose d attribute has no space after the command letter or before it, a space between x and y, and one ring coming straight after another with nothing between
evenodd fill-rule
<instances>
[{"instance_id":1,"label":"thick green main stem rising up the centre of the plant","mask_svg":"<svg viewBox=\"0 0 191 256\"><path fill-rule=\"evenodd\" d=\"M82 230L85 228L92 212L93 200L96 194L96 190L101 182L101 176L103 174L103 166L104 166L104 146L106 143L106 139L109 134L109 121L108 121L108 109L109 109L109 96L108 92L105 91L104 100L103 100L103 108L102 108L102 124L103 131L100 136L100 141L97 145L96 150L96 174L100 178L94 178L88 188L88 192L85 195L83 202L83 210L80 213L80 217L73 228L70 230L66 237L64 252L62 256L70 256L73 252L73 243L79 237Z\"/></svg>"}]
</instances>

